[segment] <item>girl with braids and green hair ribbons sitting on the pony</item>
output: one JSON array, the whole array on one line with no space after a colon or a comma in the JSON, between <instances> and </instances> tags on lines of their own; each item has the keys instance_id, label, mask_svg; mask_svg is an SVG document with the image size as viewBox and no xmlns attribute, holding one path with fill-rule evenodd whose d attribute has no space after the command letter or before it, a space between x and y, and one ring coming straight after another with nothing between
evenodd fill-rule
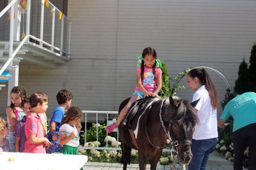
<instances>
[{"instance_id":1,"label":"girl with braids and green hair ribbons sitting on the pony","mask_svg":"<svg viewBox=\"0 0 256 170\"><path fill-rule=\"evenodd\" d=\"M111 133L120 125L135 101L146 96L158 96L157 94L162 88L162 70L156 67L156 60L157 56L154 48L147 47L143 50L141 66L136 69L136 88L134 94L127 105L121 110L117 121L106 128L108 133ZM123 122L123 124L126 124L126 122Z\"/></svg>"}]
</instances>

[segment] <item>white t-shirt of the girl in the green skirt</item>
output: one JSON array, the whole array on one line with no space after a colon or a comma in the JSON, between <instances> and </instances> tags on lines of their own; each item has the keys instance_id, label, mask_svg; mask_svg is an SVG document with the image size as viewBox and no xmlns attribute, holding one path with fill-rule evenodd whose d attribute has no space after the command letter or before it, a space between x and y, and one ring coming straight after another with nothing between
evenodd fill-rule
<instances>
[{"instance_id":1,"label":"white t-shirt of the girl in the green skirt","mask_svg":"<svg viewBox=\"0 0 256 170\"><path fill-rule=\"evenodd\" d=\"M71 126L68 123L62 124L59 130L59 134L67 134L69 136L71 132L75 132L75 137L73 137L70 141L68 141L65 145L68 145L70 147L78 147L79 146L79 133L78 129L76 129L76 126Z\"/></svg>"}]
</instances>

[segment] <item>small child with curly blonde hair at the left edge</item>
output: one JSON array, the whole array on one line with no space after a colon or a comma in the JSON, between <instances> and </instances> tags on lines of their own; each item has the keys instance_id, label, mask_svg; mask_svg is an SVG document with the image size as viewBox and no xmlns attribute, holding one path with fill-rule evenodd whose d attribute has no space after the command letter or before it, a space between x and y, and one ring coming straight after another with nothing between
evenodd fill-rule
<instances>
[{"instance_id":1,"label":"small child with curly blonde hair at the left edge","mask_svg":"<svg viewBox=\"0 0 256 170\"><path fill-rule=\"evenodd\" d=\"M6 136L9 134L8 131L8 123L6 120L2 119L0 117L0 152L9 152L10 147L9 147L9 142L6 139Z\"/></svg>"}]
</instances>

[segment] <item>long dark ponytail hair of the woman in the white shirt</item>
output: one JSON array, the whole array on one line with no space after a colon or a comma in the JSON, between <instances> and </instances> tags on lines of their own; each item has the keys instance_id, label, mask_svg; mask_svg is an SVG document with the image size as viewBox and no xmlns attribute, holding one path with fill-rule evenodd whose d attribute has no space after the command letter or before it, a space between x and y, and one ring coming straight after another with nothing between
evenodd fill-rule
<instances>
[{"instance_id":1,"label":"long dark ponytail hair of the woman in the white shirt","mask_svg":"<svg viewBox=\"0 0 256 170\"><path fill-rule=\"evenodd\" d=\"M188 75L191 78L197 77L202 85L204 85L210 95L211 98L211 106L213 106L214 109L218 108L219 98L217 91L215 89L215 86L213 84L213 81L211 80L211 77L207 73L207 71L203 68L201 69L192 69L188 73Z\"/></svg>"}]
</instances>

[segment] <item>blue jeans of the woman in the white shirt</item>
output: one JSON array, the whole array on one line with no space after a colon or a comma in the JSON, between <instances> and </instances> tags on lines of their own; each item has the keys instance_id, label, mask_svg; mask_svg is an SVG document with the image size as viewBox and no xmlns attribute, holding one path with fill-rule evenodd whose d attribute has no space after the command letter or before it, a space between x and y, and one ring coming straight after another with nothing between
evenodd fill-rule
<instances>
[{"instance_id":1,"label":"blue jeans of the woman in the white shirt","mask_svg":"<svg viewBox=\"0 0 256 170\"><path fill-rule=\"evenodd\" d=\"M192 160L188 165L189 170L204 170L208 162L210 153L214 150L218 138L211 138L205 140L192 139Z\"/></svg>"}]
</instances>

